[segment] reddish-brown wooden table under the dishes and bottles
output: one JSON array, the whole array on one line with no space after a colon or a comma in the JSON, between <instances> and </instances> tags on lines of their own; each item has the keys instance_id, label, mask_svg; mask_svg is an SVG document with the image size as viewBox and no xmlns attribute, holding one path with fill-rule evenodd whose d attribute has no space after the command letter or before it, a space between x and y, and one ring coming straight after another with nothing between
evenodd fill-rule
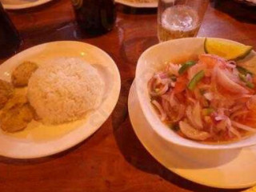
<instances>
[{"instance_id":1,"label":"reddish-brown wooden table under the dishes and bottles","mask_svg":"<svg viewBox=\"0 0 256 192\"><path fill-rule=\"evenodd\" d=\"M198 36L229 38L256 48L254 11L229 0L211 2ZM70 0L9 14L24 40L21 50L59 40L88 42L105 50L118 65L122 91L110 118L78 146L34 160L0 157L1 192L222 191L189 182L161 166L130 125L127 96L140 54L158 43L156 10L118 6L114 30L98 38L82 38L76 33Z\"/></svg>"}]
</instances>

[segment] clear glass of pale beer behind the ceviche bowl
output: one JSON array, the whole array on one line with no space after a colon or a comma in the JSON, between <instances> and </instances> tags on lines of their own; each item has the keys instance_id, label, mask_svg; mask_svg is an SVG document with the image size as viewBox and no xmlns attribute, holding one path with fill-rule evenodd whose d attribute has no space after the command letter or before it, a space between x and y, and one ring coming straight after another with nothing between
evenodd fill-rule
<instances>
[{"instance_id":1,"label":"clear glass of pale beer behind the ceviche bowl","mask_svg":"<svg viewBox=\"0 0 256 192\"><path fill-rule=\"evenodd\" d=\"M209 0L159 0L159 42L198 34Z\"/></svg>"}]
</instances>

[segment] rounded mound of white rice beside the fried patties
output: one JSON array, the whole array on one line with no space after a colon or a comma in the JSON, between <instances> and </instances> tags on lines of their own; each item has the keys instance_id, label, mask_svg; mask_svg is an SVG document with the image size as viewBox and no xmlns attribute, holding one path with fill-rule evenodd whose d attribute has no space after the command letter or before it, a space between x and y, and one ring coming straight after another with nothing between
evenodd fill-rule
<instances>
[{"instance_id":1,"label":"rounded mound of white rice beside the fried patties","mask_svg":"<svg viewBox=\"0 0 256 192\"><path fill-rule=\"evenodd\" d=\"M104 83L96 70L80 58L58 58L39 66L31 76L27 96L46 124L70 122L97 108Z\"/></svg>"}]
</instances>

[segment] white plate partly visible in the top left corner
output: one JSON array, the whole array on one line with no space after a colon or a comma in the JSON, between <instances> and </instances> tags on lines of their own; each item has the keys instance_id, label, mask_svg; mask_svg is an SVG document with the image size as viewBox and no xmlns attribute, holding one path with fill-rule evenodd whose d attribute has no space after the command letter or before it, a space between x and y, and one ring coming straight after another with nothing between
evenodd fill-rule
<instances>
[{"instance_id":1,"label":"white plate partly visible in the top left corner","mask_svg":"<svg viewBox=\"0 0 256 192\"><path fill-rule=\"evenodd\" d=\"M40 6L53 0L1 0L6 10L22 10L34 6Z\"/></svg>"}]
</instances>

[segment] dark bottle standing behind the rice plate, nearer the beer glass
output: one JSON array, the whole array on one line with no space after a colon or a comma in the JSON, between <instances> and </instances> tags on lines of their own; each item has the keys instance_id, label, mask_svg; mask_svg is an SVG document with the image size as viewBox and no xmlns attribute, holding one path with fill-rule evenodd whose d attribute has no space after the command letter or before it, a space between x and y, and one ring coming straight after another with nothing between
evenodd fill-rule
<instances>
[{"instance_id":1,"label":"dark bottle standing behind the rice plate, nearer the beer glass","mask_svg":"<svg viewBox=\"0 0 256 192\"><path fill-rule=\"evenodd\" d=\"M105 34L116 19L114 0L72 0L78 26L86 34Z\"/></svg>"}]
</instances>

